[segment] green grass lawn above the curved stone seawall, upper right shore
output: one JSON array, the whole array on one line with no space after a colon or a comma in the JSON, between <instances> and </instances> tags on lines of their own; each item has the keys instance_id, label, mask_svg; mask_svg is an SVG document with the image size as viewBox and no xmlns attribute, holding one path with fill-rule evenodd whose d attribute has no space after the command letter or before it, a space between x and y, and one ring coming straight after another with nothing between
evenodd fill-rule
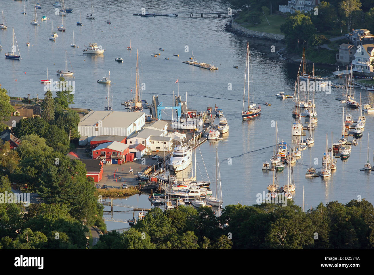
<instances>
[{"instance_id":1,"label":"green grass lawn above the curved stone seawall, upper right shore","mask_svg":"<svg viewBox=\"0 0 374 275\"><path fill-rule=\"evenodd\" d=\"M267 20L269 20L269 24L266 21L265 16L261 16L261 23L257 25L246 24L247 23L247 14L243 13L240 14L235 22L242 25L243 27L252 30L252 31L262 31L264 33L276 33L282 34L279 27L286 21L286 18L282 15L267 15Z\"/></svg>"}]
</instances>

